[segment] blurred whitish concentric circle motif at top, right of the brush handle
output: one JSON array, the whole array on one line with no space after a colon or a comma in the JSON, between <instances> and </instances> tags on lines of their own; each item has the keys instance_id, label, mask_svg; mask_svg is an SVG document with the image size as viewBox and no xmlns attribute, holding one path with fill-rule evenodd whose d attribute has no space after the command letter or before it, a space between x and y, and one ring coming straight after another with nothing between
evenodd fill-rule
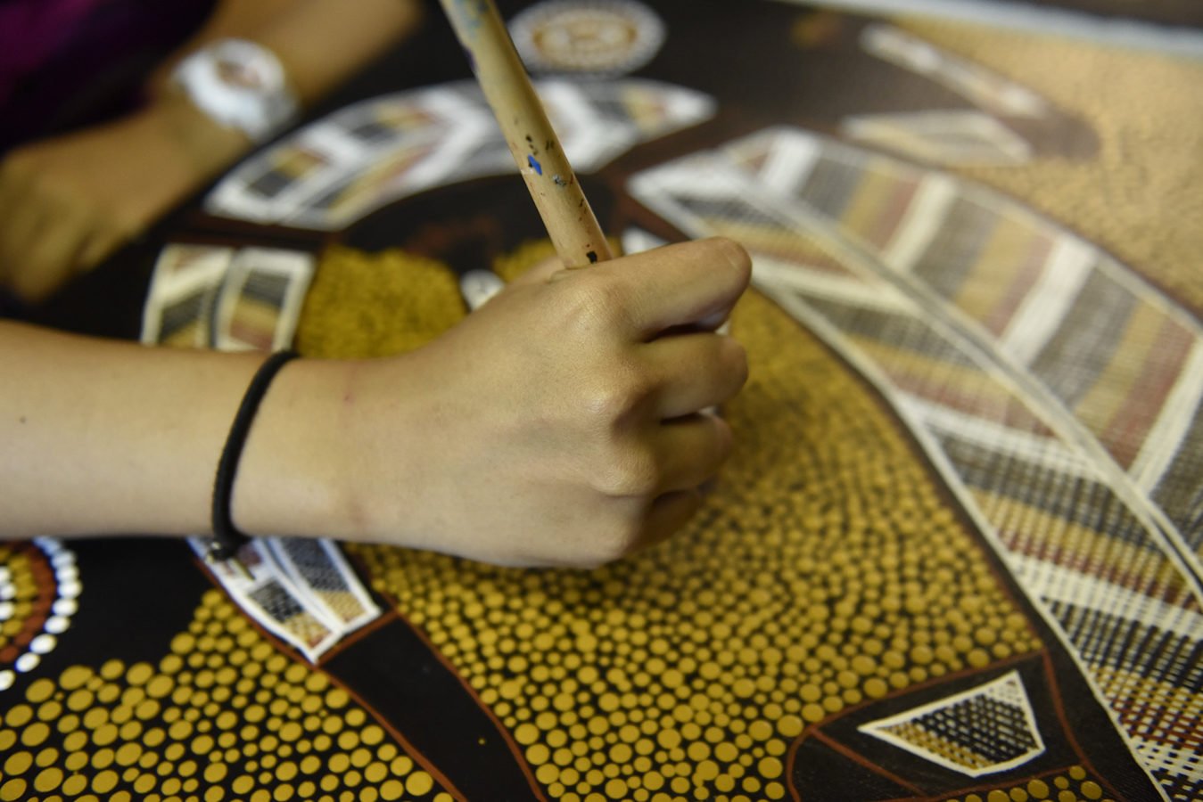
<instances>
[{"instance_id":1,"label":"blurred whitish concentric circle motif at top, right of the brush handle","mask_svg":"<svg viewBox=\"0 0 1203 802\"><path fill-rule=\"evenodd\" d=\"M510 36L532 72L634 72L664 43L664 23L630 0L552 0L518 13Z\"/></svg>"}]
</instances>

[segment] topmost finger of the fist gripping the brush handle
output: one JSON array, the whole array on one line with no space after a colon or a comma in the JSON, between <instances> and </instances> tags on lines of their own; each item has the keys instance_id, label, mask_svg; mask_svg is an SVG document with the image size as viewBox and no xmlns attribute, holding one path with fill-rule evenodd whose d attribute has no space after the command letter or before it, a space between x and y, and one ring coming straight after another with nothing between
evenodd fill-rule
<instances>
[{"instance_id":1,"label":"topmost finger of the fist gripping the brush handle","mask_svg":"<svg viewBox=\"0 0 1203 802\"><path fill-rule=\"evenodd\" d=\"M724 237L697 239L602 262L626 292L628 319L645 339L674 327L715 328L748 286L752 260Z\"/></svg>"}]
</instances>

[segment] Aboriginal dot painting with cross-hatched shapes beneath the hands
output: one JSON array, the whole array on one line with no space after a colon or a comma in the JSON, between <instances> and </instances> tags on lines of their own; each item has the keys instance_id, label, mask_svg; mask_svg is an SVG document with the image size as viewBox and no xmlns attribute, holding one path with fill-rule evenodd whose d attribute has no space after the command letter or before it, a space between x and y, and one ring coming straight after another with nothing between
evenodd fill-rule
<instances>
[{"instance_id":1,"label":"Aboriginal dot painting with cross-hatched shapes beneath the hands","mask_svg":"<svg viewBox=\"0 0 1203 802\"><path fill-rule=\"evenodd\" d=\"M6 543L0 800L1203 798L1203 61L502 11L616 250L752 254L715 492L594 571ZM550 256L467 77L432 5L160 231L143 341L398 354Z\"/></svg>"}]
</instances>

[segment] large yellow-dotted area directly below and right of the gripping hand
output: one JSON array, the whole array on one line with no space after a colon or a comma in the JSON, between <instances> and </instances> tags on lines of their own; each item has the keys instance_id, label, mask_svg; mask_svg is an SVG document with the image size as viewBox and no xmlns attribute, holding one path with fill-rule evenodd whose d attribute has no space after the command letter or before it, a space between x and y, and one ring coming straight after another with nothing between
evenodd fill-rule
<instances>
[{"instance_id":1,"label":"large yellow-dotted area directly below and right of the gripping hand","mask_svg":"<svg viewBox=\"0 0 1203 802\"><path fill-rule=\"evenodd\" d=\"M866 388L764 298L734 323L739 447L669 542L593 572L349 547L551 798L786 798L808 724L1039 648Z\"/></svg>"}]
</instances>

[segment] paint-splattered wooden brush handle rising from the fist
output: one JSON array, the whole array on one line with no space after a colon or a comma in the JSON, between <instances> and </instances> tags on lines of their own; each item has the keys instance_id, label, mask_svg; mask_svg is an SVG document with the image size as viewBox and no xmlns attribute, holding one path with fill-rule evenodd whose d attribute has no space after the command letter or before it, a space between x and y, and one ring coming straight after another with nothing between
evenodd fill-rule
<instances>
[{"instance_id":1,"label":"paint-splattered wooden brush handle rising from the fist","mask_svg":"<svg viewBox=\"0 0 1203 802\"><path fill-rule=\"evenodd\" d=\"M526 180L556 253L568 267L610 259L605 234L559 147L493 0L440 0L485 100Z\"/></svg>"}]
</instances>

